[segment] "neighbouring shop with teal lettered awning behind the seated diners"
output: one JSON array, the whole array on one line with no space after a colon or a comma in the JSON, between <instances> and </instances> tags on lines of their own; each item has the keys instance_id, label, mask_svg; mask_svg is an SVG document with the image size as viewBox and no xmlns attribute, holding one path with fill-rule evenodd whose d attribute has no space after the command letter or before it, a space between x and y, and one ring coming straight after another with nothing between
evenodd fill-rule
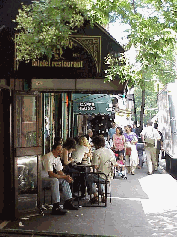
<instances>
[{"instance_id":1,"label":"neighbouring shop with teal lettered awning behind the seated diners","mask_svg":"<svg viewBox=\"0 0 177 237\"><path fill-rule=\"evenodd\" d=\"M73 94L74 136L87 134L107 137L115 111L108 94Z\"/></svg>"}]
</instances>

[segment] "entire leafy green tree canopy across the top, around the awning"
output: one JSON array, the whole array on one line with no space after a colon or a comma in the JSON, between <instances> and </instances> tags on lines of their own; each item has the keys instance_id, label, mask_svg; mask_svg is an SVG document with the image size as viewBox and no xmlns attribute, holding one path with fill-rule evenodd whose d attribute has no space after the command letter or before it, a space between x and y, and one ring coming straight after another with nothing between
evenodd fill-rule
<instances>
[{"instance_id":1,"label":"entire leafy green tree canopy across the top, around the awning","mask_svg":"<svg viewBox=\"0 0 177 237\"><path fill-rule=\"evenodd\" d=\"M117 75L129 85L151 86L154 78L163 84L176 77L176 0L39 0L22 5L16 17L17 59L52 56L54 47L67 45L69 35L83 25L105 25L120 19L129 24L128 44L136 50L131 63L126 54L108 55L106 80ZM120 67L122 65L122 67Z\"/></svg>"}]
</instances>

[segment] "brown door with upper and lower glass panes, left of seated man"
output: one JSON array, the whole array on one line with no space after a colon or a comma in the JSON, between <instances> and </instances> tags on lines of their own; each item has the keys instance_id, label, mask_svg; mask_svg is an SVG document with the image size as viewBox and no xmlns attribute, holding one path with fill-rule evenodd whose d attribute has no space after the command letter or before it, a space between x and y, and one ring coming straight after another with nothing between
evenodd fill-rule
<instances>
[{"instance_id":1,"label":"brown door with upper and lower glass panes, left of seated man","mask_svg":"<svg viewBox=\"0 0 177 237\"><path fill-rule=\"evenodd\" d=\"M15 177L18 215L40 207L41 95L15 95Z\"/></svg>"}]
</instances>

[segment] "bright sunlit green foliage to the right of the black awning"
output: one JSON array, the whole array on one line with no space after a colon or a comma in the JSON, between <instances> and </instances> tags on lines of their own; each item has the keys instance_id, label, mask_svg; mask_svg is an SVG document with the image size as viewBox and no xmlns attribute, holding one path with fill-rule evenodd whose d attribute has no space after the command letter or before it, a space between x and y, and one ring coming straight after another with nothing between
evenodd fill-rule
<instances>
[{"instance_id":1,"label":"bright sunlit green foliage to the right of the black awning","mask_svg":"<svg viewBox=\"0 0 177 237\"><path fill-rule=\"evenodd\" d=\"M135 60L130 62L126 53L119 58L109 55L107 80L113 80L118 74L130 86L140 85L141 89L152 88L154 79L163 84L174 81L177 24L169 11L177 10L177 1L174 4L174 1L134 0L126 7L123 10L126 14L118 8L114 17L130 26L125 48L135 48Z\"/></svg>"}]
</instances>

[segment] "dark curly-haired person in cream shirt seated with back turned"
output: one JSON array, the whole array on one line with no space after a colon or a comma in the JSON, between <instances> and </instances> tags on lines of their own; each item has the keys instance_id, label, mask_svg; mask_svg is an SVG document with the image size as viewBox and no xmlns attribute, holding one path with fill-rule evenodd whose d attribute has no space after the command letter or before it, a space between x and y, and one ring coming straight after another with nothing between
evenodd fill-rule
<instances>
[{"instance_id":1,"label":"dark curly-haired person in cream shirt seated with back turned","mask_svg":"<svg viewBox=\"0 0 177 237\"><path fill-rule=\"evenodd\" d=\"M114 152L105 147L105 139L103 136L96 136L93 138L93 144L95 146L95 151L93 152L92 165L95 170L98 172L104 173L107 176L107 179L113 177L113 167L117 166L116 158ZM91 203L96 203L98 201L98 196L96 192L95 182L98 181L97 174L90 174L87 177L87 191L88 194L94 194L94 197L90 200ZM105 181L105 176L102 174L99 175L99 181ZM102 202L105 202L105 190L104 185L99 185L100 194L102 196Z\"/></svg>"}]
</instances>

